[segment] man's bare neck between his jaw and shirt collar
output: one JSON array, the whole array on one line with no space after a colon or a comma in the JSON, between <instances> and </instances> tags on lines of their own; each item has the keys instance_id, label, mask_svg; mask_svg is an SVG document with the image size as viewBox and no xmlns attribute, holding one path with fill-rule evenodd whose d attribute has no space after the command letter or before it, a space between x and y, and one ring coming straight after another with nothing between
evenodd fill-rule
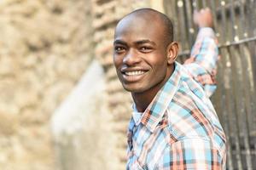
<instances>
[{"instance_id":1,"label":"man's bare neck between his jaw and shirt collar","mask_svg":"<svg viewBox=\"0 0 256 170\"><path fill-rule=\"evenodd\" d=\"M170 71L167 71L165 79L154 86L154 88L150 88L143 93L131 93L132 99L136 105L137 111L144 112L148 105L154 99L154 96L160 91L160 89L166 84L168 79L172 76L172 72L174 71L174 65L171 67Z\"/></svg>"}]
</instances>

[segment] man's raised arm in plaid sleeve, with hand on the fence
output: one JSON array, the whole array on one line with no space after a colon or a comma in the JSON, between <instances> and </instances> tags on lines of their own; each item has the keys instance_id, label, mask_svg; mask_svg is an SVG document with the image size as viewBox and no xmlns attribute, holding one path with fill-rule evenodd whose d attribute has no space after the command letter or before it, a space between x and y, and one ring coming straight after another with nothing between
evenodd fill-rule
<instances>
[{"instance_id":1,"label":"man's raised arm in plaid sleeve, with hand on the fence","mask_svg":"<svg viewBox=\"0 0 256 170\"><path fill-rule=\"evenodd\" d=\"M199 26L199 33L184 66L210 97L216 89L215 76L218 60L218 42L212 30L213 22L210 9L195 12L194 22Z\"/></svg>"}]
</instances>

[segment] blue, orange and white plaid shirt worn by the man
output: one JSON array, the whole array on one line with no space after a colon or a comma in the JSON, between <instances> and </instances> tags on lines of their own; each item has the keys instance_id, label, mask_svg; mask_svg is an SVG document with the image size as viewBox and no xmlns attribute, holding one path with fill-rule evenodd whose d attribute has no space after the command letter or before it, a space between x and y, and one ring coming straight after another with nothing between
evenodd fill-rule
<instances>
[{"instance_id":1,"label":"blue, orange and white plaid shirt worn by the man","mask_svg":"<svg viewBox=\"0 0 256 170\"><path fill-rule=\"evenodd\" d=\"M225 136L208 98L215 89L218 46L202 28L191 57L143 113L133 105L126 169L225 169Z\"/></svg>"}]
</instances>

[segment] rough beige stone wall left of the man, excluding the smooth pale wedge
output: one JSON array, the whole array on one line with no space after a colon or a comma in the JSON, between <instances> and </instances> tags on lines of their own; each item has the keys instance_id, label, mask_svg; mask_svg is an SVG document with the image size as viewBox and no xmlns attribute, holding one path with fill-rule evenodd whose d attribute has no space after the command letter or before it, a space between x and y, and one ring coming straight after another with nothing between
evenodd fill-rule
<instances>
[{"instance_id":1,"label":"rough beige stone wall left of the man, excluding the smooth pale wedge","mask_svg":"<svg viewBox=\"0 0 256 170\"><path fill-rule=\"evenodd\" d=\"M106 122L110 125L112 140L104 152L115 160L113 168L125 169L131 96L124 92L113 68L113 29L132 9L153 7L161 10L162 1L155 2L0 0L0 169L58 168L55 167L58 163L55 162L49 120L94 56L106 75L107 96L104 99L108 105L104 109L111 114ZM101 117L96 116L96 119L102 121ZM86 139L89 146L94 141L107 144L102 139L104 136L97 135L101 138L96 136L89 141L90 138L84 136L79 141ZM68 153L68 148L62 149L61 153ZM86 164L94 162L104 166L104 161L93 161L93 157L87 161Z\"/></svg>"}]
</instances>

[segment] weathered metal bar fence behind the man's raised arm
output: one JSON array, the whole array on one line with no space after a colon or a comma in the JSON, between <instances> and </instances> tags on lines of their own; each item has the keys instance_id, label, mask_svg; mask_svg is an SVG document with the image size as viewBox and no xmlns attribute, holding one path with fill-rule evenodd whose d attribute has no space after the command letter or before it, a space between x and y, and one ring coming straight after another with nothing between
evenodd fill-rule
<instances>
[{"instance_id":1,"label":"weathered metal bar fence behind the man's raised arm","mask_svg":"<svg viewBox=\"0 0 256 170\"><path fill-rule=\"evenodd\" d=\"M256 169L256 1L166 0L182 44L180 59L195 41L195 9L209 7L219 41L218 90L213 104L228 140L227 169Z\"/></svg>"}]
</instances>

